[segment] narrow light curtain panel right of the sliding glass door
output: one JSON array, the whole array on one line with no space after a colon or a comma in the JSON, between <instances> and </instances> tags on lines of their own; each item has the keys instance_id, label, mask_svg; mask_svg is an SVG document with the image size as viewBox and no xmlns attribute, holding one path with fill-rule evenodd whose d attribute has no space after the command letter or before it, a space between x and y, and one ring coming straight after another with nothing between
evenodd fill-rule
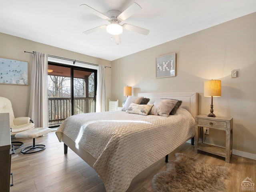
<instances>
[{"instance_id":1,"label":"narrow light curtain panel right of the sliding glass door","mask_svg":"<svg viewBox=\"0 0 256 192\"><path fill-rule=\"evenodd\" d=\"M105 111L105 67L99 65L97 74L96 112Z\"/></svg>"}]
</instances>

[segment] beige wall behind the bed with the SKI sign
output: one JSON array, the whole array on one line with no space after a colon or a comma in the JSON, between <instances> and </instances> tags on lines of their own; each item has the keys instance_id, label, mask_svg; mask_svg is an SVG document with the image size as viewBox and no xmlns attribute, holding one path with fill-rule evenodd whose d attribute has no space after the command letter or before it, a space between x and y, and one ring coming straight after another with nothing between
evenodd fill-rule
<instances>
[{"instance_id":1,"label":"beige wall behind the bed with the SKI sign","mask_svg":"<svg viewBox=\"0 0 256 192\"><path fill-rule=\"evenodd\" d=\"M171 31L170 31L171 33ZM155 78L155 58L176 52L176 77ZM238 77L231 78L237 70ZM204 81L222 80L214 114L234 120L233 148L256 154L256 13L237 18L112 62L112 99L121 106L123 87L139 92L198 92L199 114L210 112ZM206 142L224 146L225 135L210 130Z\"/></svg>"}]
</instances>

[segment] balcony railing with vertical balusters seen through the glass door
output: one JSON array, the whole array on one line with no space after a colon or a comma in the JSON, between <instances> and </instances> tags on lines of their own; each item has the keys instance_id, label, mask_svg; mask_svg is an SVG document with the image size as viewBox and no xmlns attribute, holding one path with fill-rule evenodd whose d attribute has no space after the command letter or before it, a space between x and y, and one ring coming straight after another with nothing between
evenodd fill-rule
<instances>
[{"instance_id":1,"label":"balcony railing with vertical balusters seen through the glass door","mask_svg":"<svg viewBox=\"0 0 256 192\"><path fill-rule=\"evenodd\" d=\"M93 97L74 98L74 114L95 112ZM71 116L70 98L48 98L49 126L58 125Z\"/></svg>"}]
</instances>

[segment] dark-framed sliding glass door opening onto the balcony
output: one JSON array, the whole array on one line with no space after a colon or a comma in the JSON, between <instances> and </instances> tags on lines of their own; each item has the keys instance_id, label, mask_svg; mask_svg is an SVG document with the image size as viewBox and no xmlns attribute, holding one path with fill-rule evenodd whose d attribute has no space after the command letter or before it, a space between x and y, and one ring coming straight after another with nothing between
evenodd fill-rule
<instances>
[{"instance_id":1,"label":"dark-framed sliding glass door opening onto the balcony","mask_svg":"<svg viewBox=\"0 0 256 192\"><path fill-rule=\"evenodd\" d=\"M49 127L74 114L95 112L97 70L48 62Z\"/></svg>"}]
</instances>

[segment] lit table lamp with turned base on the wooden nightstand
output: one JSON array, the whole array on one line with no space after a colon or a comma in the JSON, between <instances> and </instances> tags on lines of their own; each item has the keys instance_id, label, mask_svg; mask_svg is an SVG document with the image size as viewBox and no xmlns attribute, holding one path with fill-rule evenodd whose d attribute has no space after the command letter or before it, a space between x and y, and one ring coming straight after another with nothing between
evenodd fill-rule
<instances>
[{"instance_id":1,"label":"lit table lamp with turned base on the wooden nightstand","mask_svg":"<svg viewBox=\"0 0 256 192\"><path fill-rule=\"evenodd\" d=\"M205 97L220 97L221 96L221 80L210 80L204 82ZM210 113L208 117L216 117L213 114L213 104L211 103Z\"/></svg>"}]
</instances>

